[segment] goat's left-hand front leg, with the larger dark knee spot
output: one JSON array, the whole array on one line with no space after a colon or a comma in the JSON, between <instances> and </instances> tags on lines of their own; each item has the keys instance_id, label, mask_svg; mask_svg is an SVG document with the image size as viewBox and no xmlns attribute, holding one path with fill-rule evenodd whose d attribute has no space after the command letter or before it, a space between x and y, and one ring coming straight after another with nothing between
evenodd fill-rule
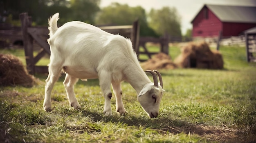
<instances>
[{"instance_id":1,"label":"goat's left-hand front leg, with the larger dark knee spot","mask_svg":"<svg viewBox=\"0 0 256 143\"><path fill-rule=\"evenodd\" d=\"M110 74L107 72L101 72L99 76L99 85L101 87L101 90L103 92L103 96L105 98L105 104L104 104L104 110L103 113L105 116L111 116L112 115L112 110L111 110L111 98L112 98L112 93L110 90L110 82L111 77Z\"/></svg>"}]
</instances>

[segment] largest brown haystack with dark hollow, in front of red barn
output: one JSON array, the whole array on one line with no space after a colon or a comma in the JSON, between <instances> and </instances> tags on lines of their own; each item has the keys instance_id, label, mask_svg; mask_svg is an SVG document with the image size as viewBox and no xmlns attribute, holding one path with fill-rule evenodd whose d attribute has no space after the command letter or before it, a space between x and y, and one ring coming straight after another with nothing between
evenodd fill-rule
<instances>
[{"instance_id":1,"label":"largest brown haystack with dark hollow, in front of red barn","mask_svg":"<svg viewBox=\"0 0 256 143\"><path fill-rule=\"evenodd\" d=\"M211 51L205 42L189 43L182 47L181 54L175 59L179 67L223 69L222 55L218 51Z\"/></svg>"}]
</instances>

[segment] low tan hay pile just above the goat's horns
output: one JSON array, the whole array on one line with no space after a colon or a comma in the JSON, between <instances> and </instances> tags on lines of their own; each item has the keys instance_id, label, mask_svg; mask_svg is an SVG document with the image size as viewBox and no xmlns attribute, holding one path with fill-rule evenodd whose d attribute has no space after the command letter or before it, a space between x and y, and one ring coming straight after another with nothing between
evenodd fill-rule
<instances>
[{"instance_id":1,"label":"low tan hay pile just above the goat's horns","mask_svg":"<svg viewBox=\"0 0 256 143\"><path fill-rule=\"evenodd\" d=\"M154 70L154 69L174 69L177 66L172 62L171 57L159 53L155 54L153 58L150 58L148 61L141 63L141 67L145 70Z\"/></svg>"}]
</instances>

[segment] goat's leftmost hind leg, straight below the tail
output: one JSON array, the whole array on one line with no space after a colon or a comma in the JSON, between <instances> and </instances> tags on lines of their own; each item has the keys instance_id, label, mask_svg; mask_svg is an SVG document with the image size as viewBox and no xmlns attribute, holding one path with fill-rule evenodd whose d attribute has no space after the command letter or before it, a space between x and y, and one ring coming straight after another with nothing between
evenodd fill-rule
<instances>
[{"instance_id":1,"label":"goat's leftmost hind leg, straight below the tail","mask_svg":"<svg viewBox=\"0 0 256 143\"><path fill-rule=\"evenodd\" d=\"M51 92L54 87L54 83L58 80L61 74L61 65L49 65L49 74L47 79L45 80L45 99L44 99L44 110L51 111Z\"/></svg>"}]
</instances>

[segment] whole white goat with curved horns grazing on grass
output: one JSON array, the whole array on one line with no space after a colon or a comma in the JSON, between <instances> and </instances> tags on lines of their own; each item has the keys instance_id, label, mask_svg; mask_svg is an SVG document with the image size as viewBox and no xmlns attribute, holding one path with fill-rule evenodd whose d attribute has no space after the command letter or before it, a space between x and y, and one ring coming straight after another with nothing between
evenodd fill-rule
<instances>
[{"instance_id":1,"label":"whole white goat with curved horns grazing on grass","mask_svg":"<svg viewBox=\"0 0 256 143\"><path fill-rule=\"evenodd\" d=\"M150 117L157 117L164 93L161 74L153 75L152 83L139 65L129 39L112 35L90 24L79 21L67 22L57 27L59 14L48 20L50 49L49 75L45 80L44 110L51 110L51 92L61 70L66 72L63 82L70 106L81 108L74 94L74 85L80 79L99 78L105 98L103 113L112 115L110 99L116 96L116 110L121 115L127 112L122 101L121 81L125 80L137 91L137 99ZM157 75L160 83L158 83Z\"/></svg>"}]
</instances>

